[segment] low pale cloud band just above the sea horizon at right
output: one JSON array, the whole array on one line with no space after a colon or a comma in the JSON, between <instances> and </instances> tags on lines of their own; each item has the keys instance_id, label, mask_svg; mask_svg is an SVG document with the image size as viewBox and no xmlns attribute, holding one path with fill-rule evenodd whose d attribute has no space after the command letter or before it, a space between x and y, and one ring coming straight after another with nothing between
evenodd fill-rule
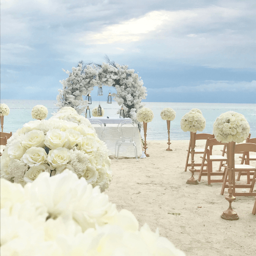
<instances>
[{"instance_id":1,"label":"low pale cloud band just above the sea horizon at right","mask_svg":"<svg viewBox=\"0 0 256 256\"><path fill-rule=\"evenodd\" d=\"M199 86L179 86L179 87L168 87L148 89L149 91L154 90L157 93L172 92L172 93L195 93L195 92L247 92L255 93L256 95L256 81L251 82L241 81L205 81L208 83L200 84Z\"/></svg>"}]
</instances>

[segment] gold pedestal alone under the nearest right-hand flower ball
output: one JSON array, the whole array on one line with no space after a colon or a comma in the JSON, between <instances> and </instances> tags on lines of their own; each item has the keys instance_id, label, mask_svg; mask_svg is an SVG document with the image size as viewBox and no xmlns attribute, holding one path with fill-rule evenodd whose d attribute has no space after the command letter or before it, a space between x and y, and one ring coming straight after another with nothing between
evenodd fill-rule
<instances>
[{"instance_id":1,"label":"gold pedestal alone under the nearest right-hand flower ball","mask_svg":"<svg viewBox=\"0 0 256 256\"><path fill-rule=\"evenodd\" d=\"M235 221L239 219L239 216L236 211L232 209L232 202L236 200L233 194L233 169L234 169L234 147L236 142L227 143L227 168L228 168L228 193L229 195L225 199L229 203L227 210L223 211L221 218L224 220Z\"/></svg>"}]
</instances>

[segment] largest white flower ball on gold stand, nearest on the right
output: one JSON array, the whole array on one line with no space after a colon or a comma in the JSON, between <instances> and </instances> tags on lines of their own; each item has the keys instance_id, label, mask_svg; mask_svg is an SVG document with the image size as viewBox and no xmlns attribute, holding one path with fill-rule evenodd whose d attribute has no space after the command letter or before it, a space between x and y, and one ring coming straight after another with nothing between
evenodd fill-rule
<instances>
[{"instance_id":1,"label":"largest white flower ball on gold stand, nearest on the right","mask_svg":"<svg viewBox=\"0 0 256 256\"><path fill-rule=\"evenodd\" d=\"M225 220L238 220L239 216L231 207L236 200L233 193L232 173L234 169L234 147L249 136L250 125L242 114L229 111L221 114L214 122L214 135L216 140L227 143L227 167L228 167L228 193L226 200L229 202L227 210L223 211L221 218Z\"/></svg>"}]
</instances>

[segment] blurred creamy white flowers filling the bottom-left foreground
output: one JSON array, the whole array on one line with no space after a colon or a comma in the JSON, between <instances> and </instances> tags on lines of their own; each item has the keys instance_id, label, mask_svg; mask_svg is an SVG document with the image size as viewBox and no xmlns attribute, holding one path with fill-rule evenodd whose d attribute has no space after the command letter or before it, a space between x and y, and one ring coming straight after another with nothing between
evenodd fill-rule
<instances>
[{"instance_id":1,"label":"blurred creamy white flowers filling the bottom-left foreground","mask_svg":"<svg viewBox=\"0 0 256 256\"><path fill-rule=\"evenodd\" d=\"M24 187L1 179L2 255L185 256L84 178L49 176Z\"/></svg>"}]
</instances>

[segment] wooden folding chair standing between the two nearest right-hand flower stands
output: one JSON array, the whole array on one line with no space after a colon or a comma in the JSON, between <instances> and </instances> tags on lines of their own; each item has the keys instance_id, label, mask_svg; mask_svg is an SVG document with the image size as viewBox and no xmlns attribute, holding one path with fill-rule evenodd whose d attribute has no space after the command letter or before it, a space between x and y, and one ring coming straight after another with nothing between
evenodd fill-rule
<instances>
[{"instance_id":1,"label":"wooden folding chair standing between the two nearest right-hand flower stands","mask_svg":"<svg viewBox=\"0 0 256 256\"><path fill-rule=\"evenodd\" d=\"M201 181L202 176L207 176L208 185L211 182L223 182L224 172L213 172L212 171L212 162L227 161L227 158L221 155L212 155L212 147L215 145L224 145L224 143L217 141L216 139L207 139L205 144L204 156L201 157L202 165L198 177L198 181ZM204 163L207 161L206 170L204 170ZM221 180L211 179L211 176L222 176Z\"/></svg>"}]
</instances>

